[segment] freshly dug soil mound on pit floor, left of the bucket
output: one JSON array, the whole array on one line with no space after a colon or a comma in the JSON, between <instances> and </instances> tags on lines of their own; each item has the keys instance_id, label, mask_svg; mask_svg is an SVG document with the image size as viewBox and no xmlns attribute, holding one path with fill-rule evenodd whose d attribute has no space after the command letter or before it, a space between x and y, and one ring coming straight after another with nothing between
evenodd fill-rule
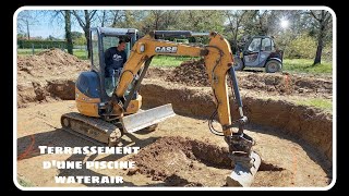
<instances>
[{"instance_id":1,"label":"freshly dug soil mound on pit floor, left of the bucket","mask_svg":"<svg viewBox=\"0 0 349 196\"><path fill-rule=\"evenodd\" d=\"M140 172L172 186L206 186L207 177L213 177L207 167L226 169L224 173L229 173L232 168L227 148L180 136L161 137L130 159L137 168L130 170L128 175ZM201 171L203 164L207 171ZM191 176L191 173L201 173L202 177Z\"/></svg>"}]
</instances>

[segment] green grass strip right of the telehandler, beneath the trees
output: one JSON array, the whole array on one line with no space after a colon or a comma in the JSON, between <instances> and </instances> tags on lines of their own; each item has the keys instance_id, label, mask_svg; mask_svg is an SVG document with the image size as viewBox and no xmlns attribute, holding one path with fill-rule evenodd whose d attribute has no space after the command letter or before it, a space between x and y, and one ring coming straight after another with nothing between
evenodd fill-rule
<instances>
[{"instance_id":1,"label":"green grass strip right of the telehandler, beneath the trees","mask_svg":"<svg viewBox=\"0 0 349 196\"><path fill-rule=\"evenodd\" d=\"M294 73L332 74L332 62L323 61L321 64L312 65L313 59L284 59L282 71Z\"/></svg>"}]
</instances>

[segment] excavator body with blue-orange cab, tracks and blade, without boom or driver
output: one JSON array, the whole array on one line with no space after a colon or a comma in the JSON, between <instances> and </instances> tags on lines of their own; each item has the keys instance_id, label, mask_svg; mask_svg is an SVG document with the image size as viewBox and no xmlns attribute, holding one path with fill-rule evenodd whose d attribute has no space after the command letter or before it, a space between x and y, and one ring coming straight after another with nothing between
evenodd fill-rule
<instances>
[{"instance_id":1,"label":"excavator body with blue-orange cab, tracks and blade, without boom or driver","mask_svg":"<svg viewBox=\"0 0 349 196\"><path fill-rule=\"evenodd\" d=\"M140 86L135 82L140 74L135 72L122 97L128 105L122 113L115 113L112 105L115 90L119 86L122 71L115 72L115 88L106 85L105 52L110 47L117 47L119 40L125 40L128 59L137 39L135 28L95 27L89 30L91 70L80 73L75 83L75 102L77 112L65 113L61 124L68 132L99 145L116 146L124 133L140 130L154 131L157 123L174 115L171 105L165 105L151 110L142 110L142 96L135 90ZM142 76L144 77L144 75Z\"/></svg>"}]
</instances>

